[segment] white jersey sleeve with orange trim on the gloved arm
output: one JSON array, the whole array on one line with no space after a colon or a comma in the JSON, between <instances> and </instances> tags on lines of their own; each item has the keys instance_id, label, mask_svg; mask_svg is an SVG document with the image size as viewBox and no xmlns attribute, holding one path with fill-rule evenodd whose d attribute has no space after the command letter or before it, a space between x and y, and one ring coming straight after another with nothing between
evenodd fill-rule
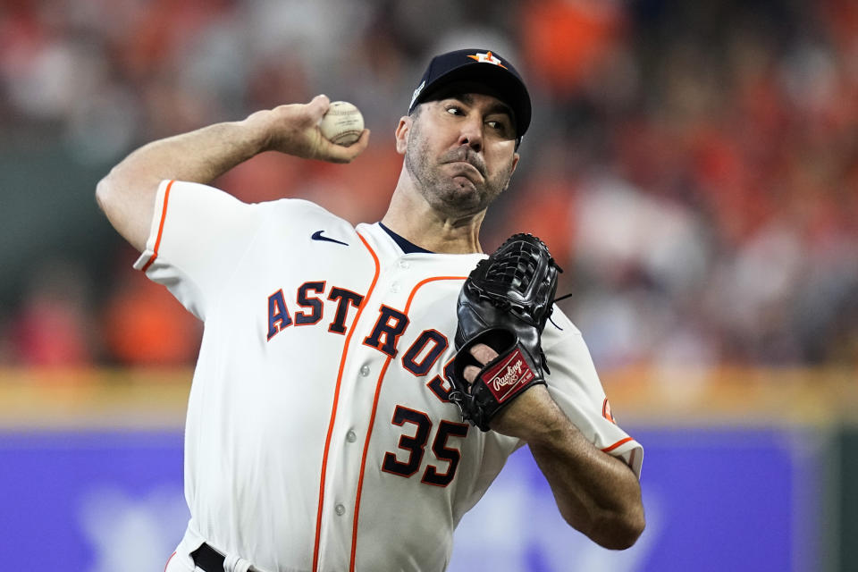
<instances>
[{"instance_id":1,"label":"white jersey sleeve with orange trim on the gloved arm","mask_svg":"<svg viewBox=\"0 0 858 572\"><path fill-rule=\"evenodd\" d=\"M587 440L622 458L640 478L644 448L614 421L581 332L557 307L551 321L543 333L543 350L551 368L546 377L551 397Z\"/></svg>"}]
</instances>

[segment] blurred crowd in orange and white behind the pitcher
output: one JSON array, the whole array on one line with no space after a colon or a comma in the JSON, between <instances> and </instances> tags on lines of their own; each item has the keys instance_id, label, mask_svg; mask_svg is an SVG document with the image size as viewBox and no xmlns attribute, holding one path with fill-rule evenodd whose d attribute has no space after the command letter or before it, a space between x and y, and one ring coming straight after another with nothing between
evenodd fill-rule
<instances>
[{"instance_id":1,"label":"blurred crowd in orange and white behind the pitcher","mask_svg":"<svg viewBox=\"0 0 858 572\"><path fill-rule=\"evenodd\" d=\"M193 364L200 325L131 269L97 181L325 93L363 111L365 156L265 154L216 184L374 222L425 63L470 46L534 98L484 248L549 244L598 366L858 364L854 0L3 0L0 364Z\"/></svg>"}]
</instances>

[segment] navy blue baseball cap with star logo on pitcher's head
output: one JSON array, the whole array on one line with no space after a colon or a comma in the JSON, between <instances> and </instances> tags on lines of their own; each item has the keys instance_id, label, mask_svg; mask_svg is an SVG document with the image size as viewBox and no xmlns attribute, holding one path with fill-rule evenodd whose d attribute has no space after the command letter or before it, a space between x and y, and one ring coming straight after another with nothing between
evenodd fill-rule
<instances>
[{"instance_id":1,"label":"navy blue baseball cap with star logo on pitcher's head","mask_svg":"<svg viewBox=\"0 0 858 572\"><path fill-rule=\"evenodd\" d=\"M489 50L464 49L434 56L414 90L408 114L417 105L430 101L442 88L460 81L482 85L492 96L509 105L516 122L518 144L530 126L530 94L512 63Z\"/></svg>"}]
</instances>

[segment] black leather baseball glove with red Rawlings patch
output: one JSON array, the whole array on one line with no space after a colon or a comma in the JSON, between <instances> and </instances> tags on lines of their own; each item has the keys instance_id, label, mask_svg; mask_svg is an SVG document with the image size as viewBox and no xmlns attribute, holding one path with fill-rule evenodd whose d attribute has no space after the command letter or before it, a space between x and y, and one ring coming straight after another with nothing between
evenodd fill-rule
<instances>
[{"instance_id":1,"label":"black leather baseball glove with red Rawlings patch","mask_svg":"<svg viewBox=\"0 0 858 572\"><path fill-rule=\"evenodd\" d=\"M468 275L458 295L457 354L450 401L483 431L492 418L550 373L540 345L562 272L542 240L514 234ZM484 343L498 357L483 365L470 352ZM480 373L468 383L467 366Z\"/></svg>"}]
</instances>

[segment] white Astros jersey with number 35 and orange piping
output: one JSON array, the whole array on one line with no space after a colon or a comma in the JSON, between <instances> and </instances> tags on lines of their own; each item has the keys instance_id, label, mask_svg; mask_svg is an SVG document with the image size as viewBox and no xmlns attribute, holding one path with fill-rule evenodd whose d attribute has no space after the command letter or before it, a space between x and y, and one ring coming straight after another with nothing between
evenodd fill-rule
<instances>
[{"instance_id":1,"label":"white Astros jersey with number 35 and orange piping","mask_svg":"<svg viewBox=\"0 0 858 572\"><path fill-rule=\"evenodd\" d=\"M453 529L522 442L447 400L456 299L482 254L406 254L299 199L164 181L135 267L205 322L185 431L202 542L265 572L443 570ZM580 332L543 333L554 400L639 474Z\"/></svg>"}]
</instances>

